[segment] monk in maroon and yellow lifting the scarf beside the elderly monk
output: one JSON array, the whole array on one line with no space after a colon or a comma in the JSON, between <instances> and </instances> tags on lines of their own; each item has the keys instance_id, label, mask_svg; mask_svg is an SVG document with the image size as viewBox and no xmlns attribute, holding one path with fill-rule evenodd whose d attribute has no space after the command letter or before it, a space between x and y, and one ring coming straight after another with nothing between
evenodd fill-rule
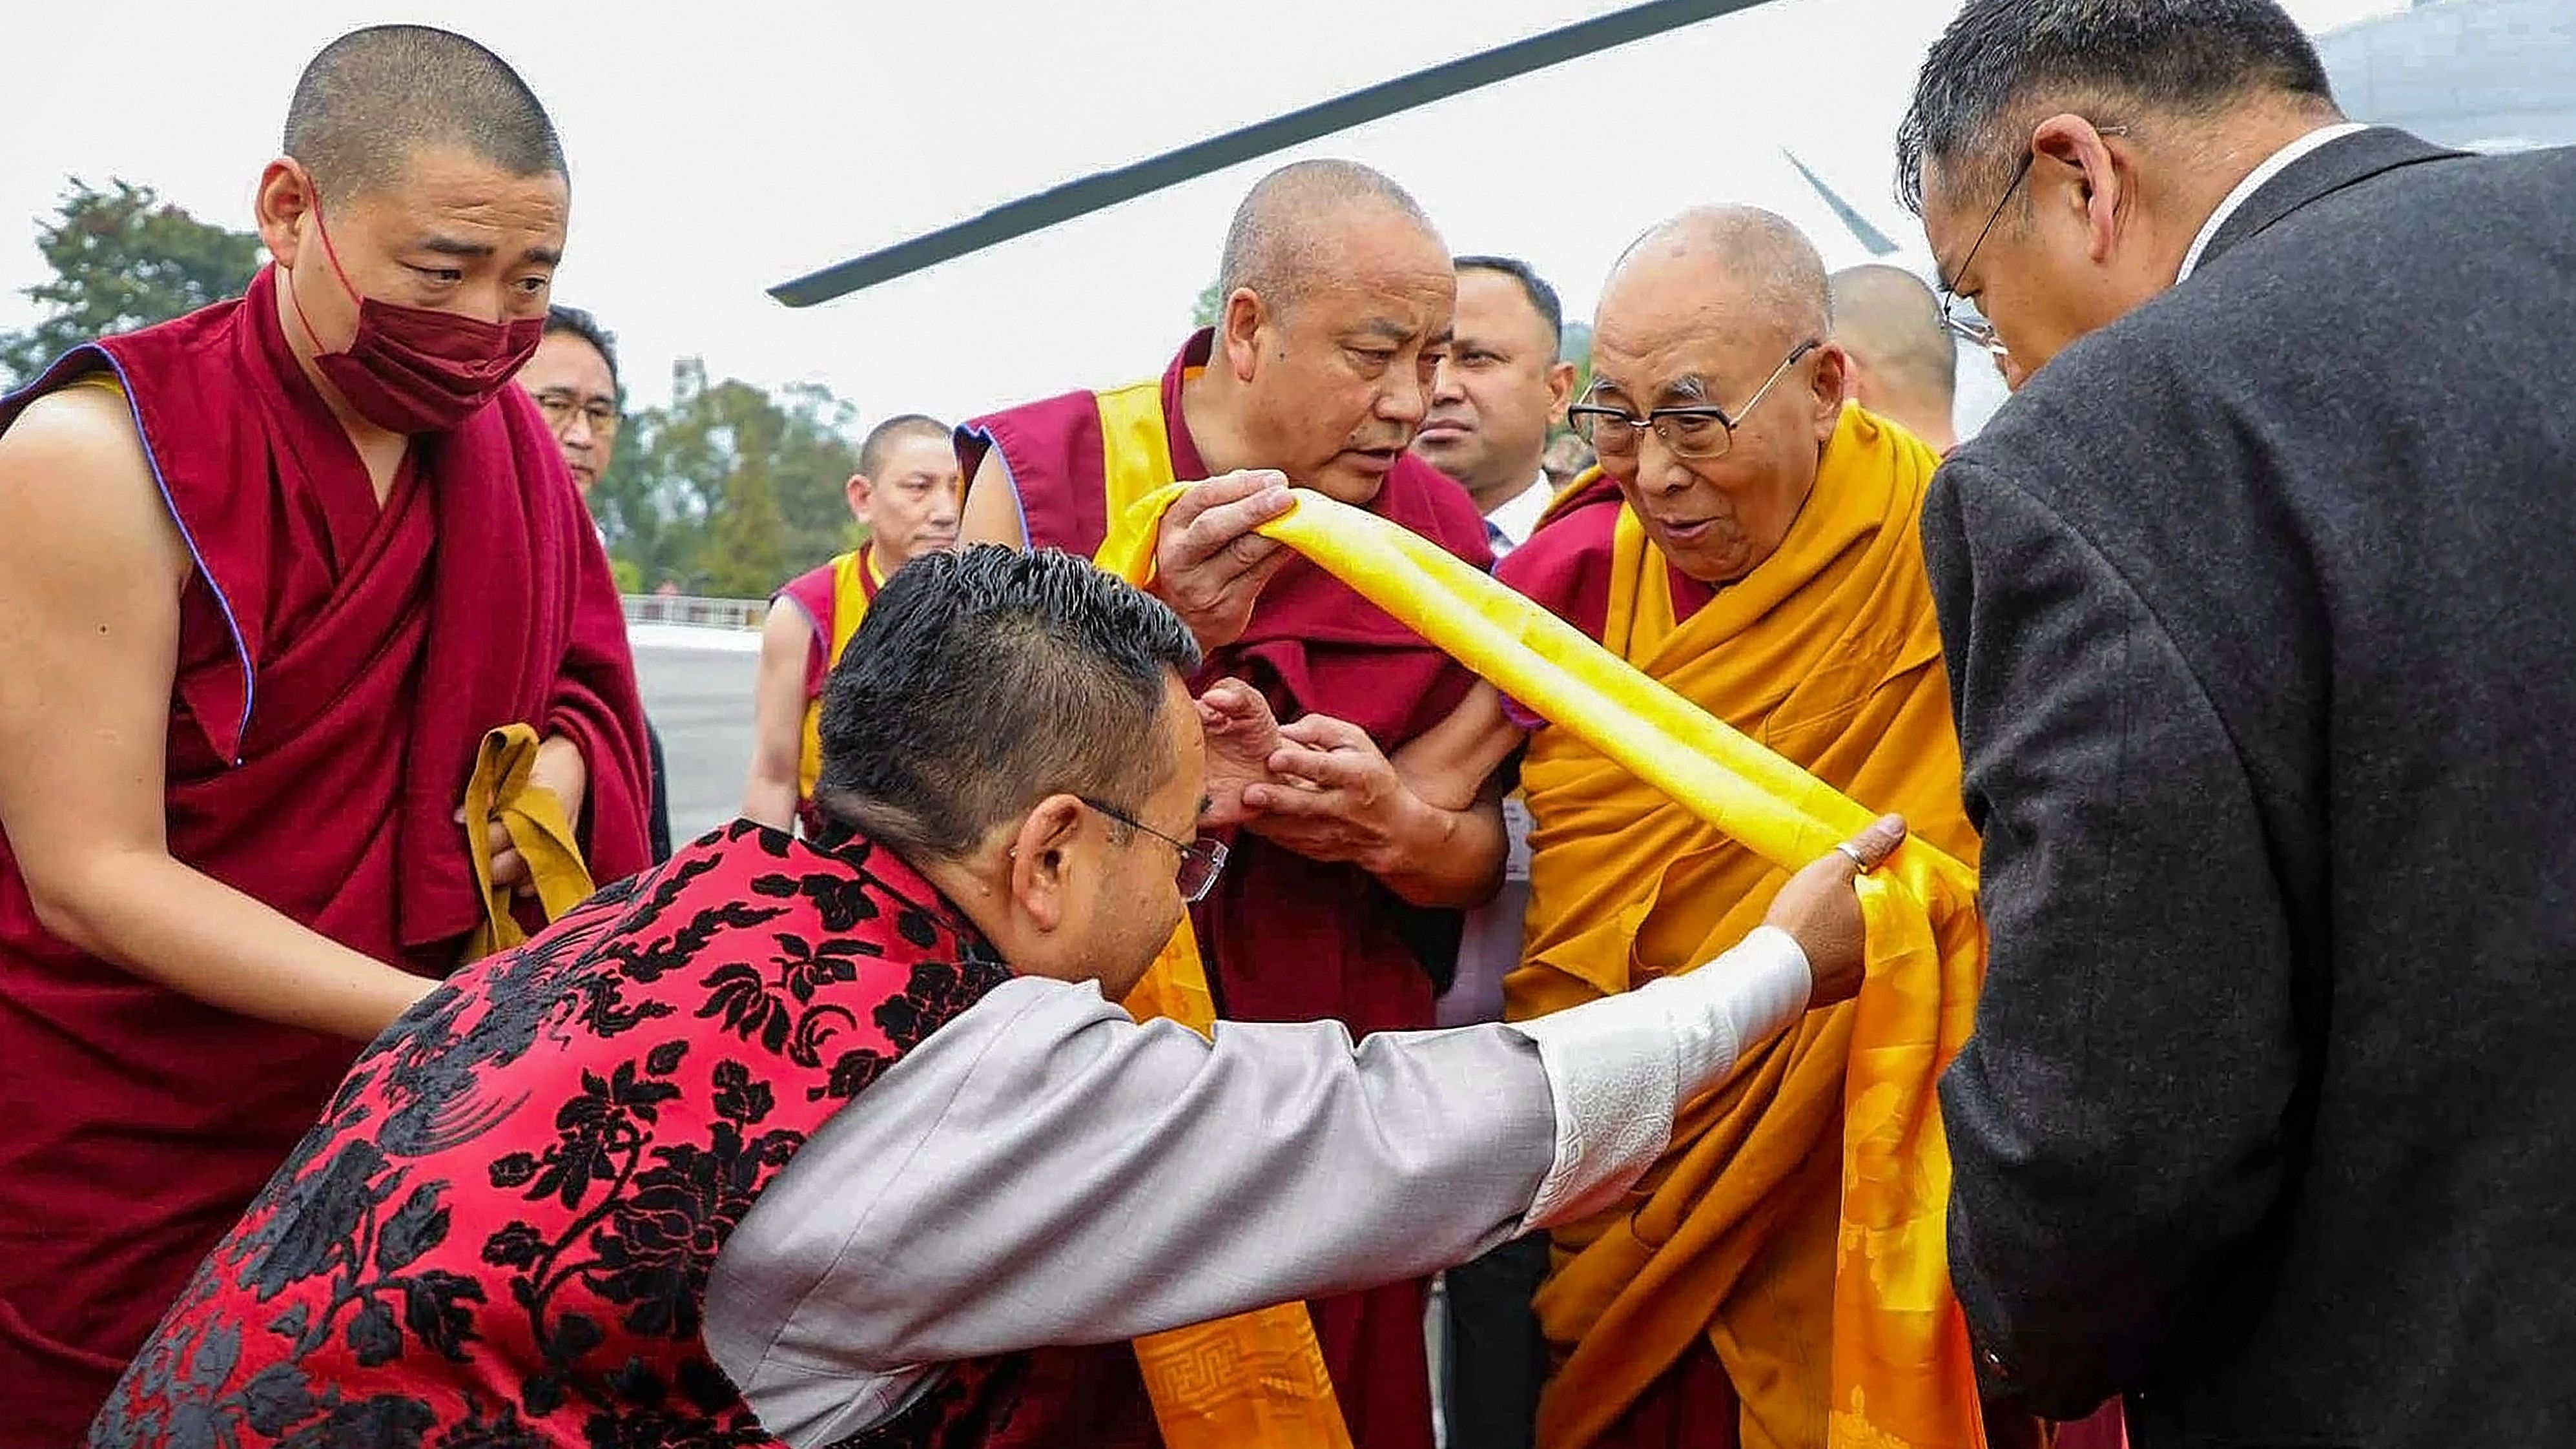
<instances>
[{"instance_id":1,"label":"monk in maroon and yellow lifting the scarf beside the elderly monk","mask_svg":"<svg viewBox=\"0 0 2576 1449\"><path fill-rule=\"evenodd\" d=\"M1283 167L1236 211L1218 281L1218 324L1159 381L958 430L966 540L1092 553L1108 520L1162 484L1270 468L1486 566L1466 489L1406 450L1455 301L1448 247L1412 196L1350 162ZM1285 489L1270 492L1285 507ZM1190 528L1203 504L1175 507L1164 528ZM1206 592L1193 577L1159 582L1208 651L1198 685L1242 679L1291 721L1288 741L1321 757L1314 788L1239 795L1234 865L1193 911L1216 1009L1334 1019L1355 1037L1430 1027L1455 963L1453 909L1499 885L1502 811L1476 795L1432 808L1388 754L1476 679L1275 543L1244 538L1211 564L1239 571ZM1419 1282L1314 1305L1342 1416L1368 1449L1432 1441L1422 1307Z\"/></svg>"}]
</instances>

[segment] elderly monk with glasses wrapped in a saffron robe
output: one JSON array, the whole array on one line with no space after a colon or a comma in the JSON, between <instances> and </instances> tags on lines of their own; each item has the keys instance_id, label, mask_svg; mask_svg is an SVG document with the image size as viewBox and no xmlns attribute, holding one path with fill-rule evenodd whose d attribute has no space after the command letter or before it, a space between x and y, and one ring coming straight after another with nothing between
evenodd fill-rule
<instances>
[{"instance_id":1,"label":"elderly monk with glasses wrapped in a saffron robe","mask_svg":"<svg viewBox=\"0 0 2576 1449\"><path fill-rule=\"evenodd\" d=\"M1705 208L1613 273L1574 422L1600 456L1499 577L1710 715L1976 860L1917 517L1932 450L1847 407L1824 265ZM1528 731L1528 734L1522 734ZM1463 798L1522 744L1530 909L1510 1019L1692 970L1780 870L1492 690L1406 759ZM1826 1441L1852 1011L1695 1102L1618 1210L1556 1230L1548 1449Z\"/></svg>"}]
</instances>

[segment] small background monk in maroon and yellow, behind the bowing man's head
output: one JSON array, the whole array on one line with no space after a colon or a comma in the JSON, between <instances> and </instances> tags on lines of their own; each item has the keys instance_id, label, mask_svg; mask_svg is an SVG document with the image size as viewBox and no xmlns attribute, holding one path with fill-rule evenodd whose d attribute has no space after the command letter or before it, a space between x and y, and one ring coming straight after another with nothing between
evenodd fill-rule
<instances>
[{"instance_id":1,"label":"small background monk in maroon and yellow, behind the bowing man's head","mask_svg":"<svg viewBox=\"0 0 2576 1449\"><path fill-rule=\"evenodd\" d=\"M858 443L850 515L858 548L788 579L760 625L752 682L752 775L742 818L778 831L811 824L822 777L822 682L858 636L876 589L922 553L958 546L958 458L948 425L920 412L889 417Z\"/></svg>"}]
</instances>

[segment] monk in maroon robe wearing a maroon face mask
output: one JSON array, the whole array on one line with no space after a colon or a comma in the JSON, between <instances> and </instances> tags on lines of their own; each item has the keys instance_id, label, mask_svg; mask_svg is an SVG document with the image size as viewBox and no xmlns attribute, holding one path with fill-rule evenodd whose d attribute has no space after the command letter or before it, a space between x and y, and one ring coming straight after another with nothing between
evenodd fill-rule
<instances>
[{"instance_id":1,"label":"monk in maroon robe wearing a maroon face mask","mask_svg":"<svg viewBox=\"0 0 2576 1449\"><path fill-rule=\"evenodd\" d=\"M507 914L528 860L461 818L487 731L533 746L513 811L647 865L616 584L510 386L554 126L394 26L312 62L283 152L250 296L0 401L8 1449L80 1436L358 1045Z\"/></svg>"}]
</instances>

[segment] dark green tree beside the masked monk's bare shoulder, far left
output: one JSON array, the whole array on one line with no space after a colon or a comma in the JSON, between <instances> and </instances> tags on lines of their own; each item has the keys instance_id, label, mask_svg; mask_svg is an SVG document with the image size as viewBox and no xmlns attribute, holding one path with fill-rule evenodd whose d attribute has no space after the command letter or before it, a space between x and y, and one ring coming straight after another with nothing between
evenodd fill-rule
<instances>
[{"instance_id":1,"label":"dark green tree beside the masked monk's bare shoulder, far left","mask_svg":"<svg viewBox=\"0 0 2576 1449\"><path fill-rule=\"evenodd\" d=\"M240 296L260 268L260 237L227 232L162 201L149 185L72 180L36 250L54 270L26 288L52 309L26 332L0 332L0 371L36 376L106 332L131 332Z\"/></svg>"}]
</instances>

